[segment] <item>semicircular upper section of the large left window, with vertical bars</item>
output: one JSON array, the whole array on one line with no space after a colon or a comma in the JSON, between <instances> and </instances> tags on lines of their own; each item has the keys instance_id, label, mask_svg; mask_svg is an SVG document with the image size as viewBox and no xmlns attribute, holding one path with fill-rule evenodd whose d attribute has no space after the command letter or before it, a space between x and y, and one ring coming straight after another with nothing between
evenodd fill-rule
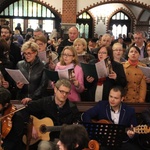
<instances>
[{"instance_id":1,"label":"semicircular upper section of the large left window, with vertical bars","mask_svg":"<svg viewBox=\"0 0 150 150\"><path fill-rule=\"evenodd\" d=\"M55 15L48 8L30 0L19 0L14 2L0 13L0 17L1 16L55 18Z\"/></svg>"}]
</instances>

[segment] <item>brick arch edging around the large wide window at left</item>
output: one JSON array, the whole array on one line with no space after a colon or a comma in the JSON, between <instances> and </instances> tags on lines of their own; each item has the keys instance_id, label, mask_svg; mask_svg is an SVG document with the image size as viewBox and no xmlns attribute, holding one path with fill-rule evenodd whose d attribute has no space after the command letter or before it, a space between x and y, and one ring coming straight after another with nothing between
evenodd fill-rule
<instances>
[{"instance_id":1,"label":"brick arch edging around the large wide window at left","mask_svg":"<svg viewBox=\"0 0 150 150\"><path fill-rule=\"evenodd\" d=\"M10 4L16 2L18 0L1 0L0 1L0 12L2 12L5 8L7 8ZM31 0L33 2L39 3L46 8L50 9L55 15L57 15L59 18L61 18L61 12L58 11L55 7L52 5L48 4L47 2L43 2L42 0Z\"/></svg>"}]
</instances>

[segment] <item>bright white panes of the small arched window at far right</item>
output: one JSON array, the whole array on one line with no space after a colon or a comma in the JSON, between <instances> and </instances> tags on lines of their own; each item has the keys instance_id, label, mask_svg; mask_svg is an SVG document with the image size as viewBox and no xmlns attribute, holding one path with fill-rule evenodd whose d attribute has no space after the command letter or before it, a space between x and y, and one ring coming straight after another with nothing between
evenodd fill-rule
<instances>
[{"instance_id":1,"label":"bright white panes of the small arched window at far right","mask_svg":"<svg viewBox=\"0 0 150 150\"><path fill-rule=\"evenodd\" d=\"M110 26L112 27L112 34L114 37L118 38L120 34L125 34L127 36L128 32L130 32L130 24L130 18L122 11L112 16Z\"/></svg>"}]
</instances>

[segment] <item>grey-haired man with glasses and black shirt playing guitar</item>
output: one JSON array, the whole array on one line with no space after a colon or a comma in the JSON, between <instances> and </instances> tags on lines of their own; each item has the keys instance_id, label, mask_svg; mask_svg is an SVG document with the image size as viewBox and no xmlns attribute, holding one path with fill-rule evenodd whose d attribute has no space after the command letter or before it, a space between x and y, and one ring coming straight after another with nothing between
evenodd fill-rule
<instances>
[{"instance_id":1,"label":"grey-haired man with glasses and black shirt playing guitar","mask_svg":"<svg viewBox=\"0 0 150 150\"><path fill-rule=\"evenodd\" d=\"M41 114L40 117L42 118L51 118L54 126L79 122L80 113L77 106L67 99L70 89L71 83L69 80L58 80L54 86L54 96L45 97L37 101L29 101L27 108L23 111L24 117L27 118L29 115L37 116L37 114ZM32 137L38 138L37 129L34 127ZM51 132L50 137L51 141L41 141L38 144L38 150L54 149L54 140L59 137L59 131Z\"/></svg>"}]
</instances>

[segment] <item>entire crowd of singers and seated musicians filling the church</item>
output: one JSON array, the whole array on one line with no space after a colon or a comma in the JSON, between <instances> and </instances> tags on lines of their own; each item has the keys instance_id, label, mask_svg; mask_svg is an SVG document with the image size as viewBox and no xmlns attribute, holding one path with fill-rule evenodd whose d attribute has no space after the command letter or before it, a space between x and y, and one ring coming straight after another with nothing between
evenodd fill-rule
<instances>
[{"instance_id":1,"label":"entire crowd of singers and seated musicians filling the church","mask_svg":"<svg viewBox=\"0 0 150 150\"><path fill-rule=\"evenodd\" d=\"M10 100L20 100L26 106L15 113L15 116L22 116L20 123L15 123L16 117L12 117L12 129L6 137L2 137L1 146L4 150L23 150L22 124L29 122L30 115L51 118L55 126L70 125L64 126L61 132L51 132L50 141L42 140L36 145L38 150L87 148L88 133L77 123L92 122L95 117L131 128L137 125L134 109L124 102L150 101L150 79L139 67L150 66L150 43L144 32L136 31L130 44L126 43L125 37L113 39L109 33L97 39L80 38L75 26L69 28L68 39L63 40L48 38L42 29L31 30L31 27L27 30L25 39L19 26L14 34L8 26L2 26L0 34L0 111L2 115L5 114L11 106ZM82 63L96 65L107 58L111 65L107 76L95 78L84 75ZM5 68L19 69L29 84L19 80L15 82ZM47 77L45 69L56 72L73 69L73 72L69 79L60 78L54 82ZM48 93L49 88L53 91L51 94ZM80 101L98 104L81 116L74 103ZM17 132L18 128L20 130ZM126 142L118 150L142 149L135 144L137 135L132 130L128 130L126 136ZM34 125L32 137L38 138ZM16 147L17 142L19 146ZM102 150L105 149L111 148L102 147Z\"/></svg>"}]
</instances>

